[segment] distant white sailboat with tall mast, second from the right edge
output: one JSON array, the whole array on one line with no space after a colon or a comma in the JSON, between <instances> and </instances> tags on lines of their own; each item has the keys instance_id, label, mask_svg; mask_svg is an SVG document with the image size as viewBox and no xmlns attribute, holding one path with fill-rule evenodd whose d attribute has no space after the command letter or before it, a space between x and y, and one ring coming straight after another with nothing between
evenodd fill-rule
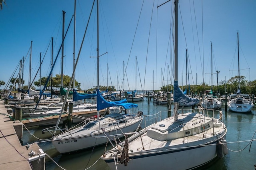
<instances>
[{"instance_id":1,"label":"distant white sailboat with tall mast, second from the right edge","mask_svg":"<svg viewBox=\"0 0 256 170\"><path fill-rule=\"evenodd\" d=\"M212 43L211 43L211 54L212 54ZM212 55L211 55L211 60L212 60ZM212 61L211 61L212 63ZM211 70L212 70L212 66L211 66ZM211 73L212 76L212 73ZM213 88L212 88L213 89ZM211 95L207 96L204 101L202 101L202 107L206 108L206 109L220 109L221 108L221 100L218 99L216 96L213 96L213 91L211 89Z\"/></svg>"}]
</instances>

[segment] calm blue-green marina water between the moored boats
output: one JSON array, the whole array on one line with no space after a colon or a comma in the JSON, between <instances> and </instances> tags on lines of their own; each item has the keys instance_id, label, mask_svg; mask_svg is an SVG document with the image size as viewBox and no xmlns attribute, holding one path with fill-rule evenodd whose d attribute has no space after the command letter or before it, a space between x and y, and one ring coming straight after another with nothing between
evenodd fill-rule
<instances>
[{"instance_id":1,"label":"calm blue-green marina water between the moored boats","mask_svg":"<svg viewBox=\"0 0 256 170\"><path fill-rule=\"evenodd\" d=\"M161 110L167 110L166 105L154 105L152 101L148 105L148 100L145 98L143 102L137 102L140 110L144 115L153 115ZM226 124L228 132L226 134L229 151L224 158L216 158L206 166L199 168L200 170L254 170L256 164L256 142L250 145L247 140L256 138L254 132L256 130L256 108L253 108L251 113L240 114L234 112L225 113L225 106L222 106L223 121ZM166 118L167 112L162 112L162 118ZM152 116L146 117L146 126L155 121ZM142 128L145 126L143 123ZM50 138L47 133L42 134L42 129L45 127L29 128L30 132L41 139ZM24 144L31 144L39 140L31 136L27 130L24 129L22 141ZM240 141L240 142L238 142ZM244 142L241 142L244 141ZM249 145L248 145L249 144ZM72 154L59 154L51 142L44 142L38 144L45 153L47 153L55 162L66 170L84 170L96 162L105 150L105 145L98 146L94 149L79 151ZM247 146L248 145L248 146ZM247 147L246 147L247 146ZM111 149L112 146L108 146ZM250 152L249 152L250 151ZM207 154L207 153L205 153ZM202 155L203 157L204 155ZM171 167L172 165L170 165ZM90 169L92 170L110 170L108 165L99 160ZM198 169L198 170L199 170ZM46 158L46 170L61 170L52 160Z\"/></svg>"}]
</instances>

